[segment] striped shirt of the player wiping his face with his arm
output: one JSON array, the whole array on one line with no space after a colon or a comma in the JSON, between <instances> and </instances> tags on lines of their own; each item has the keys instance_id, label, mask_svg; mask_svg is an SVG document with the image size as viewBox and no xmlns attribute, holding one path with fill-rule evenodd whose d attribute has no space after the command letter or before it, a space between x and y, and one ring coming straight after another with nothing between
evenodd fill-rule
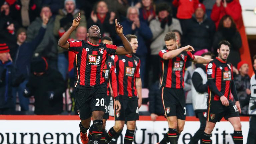
<instances>
[{"instance_id":1,"label":"striped shirt of the player wiping his face with his arm","mask_svg":"<svg viewBox=\"0 0 256 144\"><path fill-rule=\"evenodd\" d=\"M185 64L187 60L193 60L195 56L191 52L181 52L175 58L164 60L163 55L168 50L164 49L159 52L162 58L162 86L168 88L181 89L184 87Z\"/></svg>"}]
</instances>

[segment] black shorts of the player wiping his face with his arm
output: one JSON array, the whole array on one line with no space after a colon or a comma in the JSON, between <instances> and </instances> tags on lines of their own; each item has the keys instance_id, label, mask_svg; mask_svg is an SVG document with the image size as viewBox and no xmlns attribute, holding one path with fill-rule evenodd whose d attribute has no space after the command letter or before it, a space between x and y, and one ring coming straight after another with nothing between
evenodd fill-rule
<instances>
[{"instance_id":1,"label":"black shorts of the player wiping his face with his arm","mask_svg":"<svg viewBox=\"0 0 256 144\"><path fill-rule=\"evenodd\" d=\"M186 119L186 102L183 89L161 87L165 116L177 116L178 119Z\"/></svg>"}]
</instances>

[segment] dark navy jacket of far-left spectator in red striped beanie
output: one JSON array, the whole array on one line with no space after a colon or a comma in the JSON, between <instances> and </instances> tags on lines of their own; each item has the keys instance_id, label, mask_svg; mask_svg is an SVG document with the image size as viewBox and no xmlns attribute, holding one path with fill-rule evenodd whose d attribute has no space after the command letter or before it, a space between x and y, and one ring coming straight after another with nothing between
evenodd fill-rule
<instances>
[{"instance_id":1,"label":"dark navy jacket of far-left spectator in red striped beanie","mask_svg":"<svg viewBox=\"0 0 256 144\"><path fill-rule=\"evenodd\" d=\"M0 108L14 107L12 96L14 68L11 61L0 61Z\"/></svg>"}]
</instances>

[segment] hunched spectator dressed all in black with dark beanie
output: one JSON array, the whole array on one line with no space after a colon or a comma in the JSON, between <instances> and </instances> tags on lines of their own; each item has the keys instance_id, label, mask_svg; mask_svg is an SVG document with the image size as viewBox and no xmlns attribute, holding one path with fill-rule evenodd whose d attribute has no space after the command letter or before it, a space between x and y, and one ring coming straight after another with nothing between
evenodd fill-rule
<instances>
[{"instance_id":1,"label":"hunched spectator dressed all in black with dark beanie","mask_svg":"<svg viewBox=\"0 0 256 144\"><path fill-rule=\"evenodd\" d=\"M34 58L31 62L31 72L24 95L34 96L36 115L56 115L63 111L62 94L65 91L61 74L48 68L44 57Z\"/></svg>"}]
</instances>

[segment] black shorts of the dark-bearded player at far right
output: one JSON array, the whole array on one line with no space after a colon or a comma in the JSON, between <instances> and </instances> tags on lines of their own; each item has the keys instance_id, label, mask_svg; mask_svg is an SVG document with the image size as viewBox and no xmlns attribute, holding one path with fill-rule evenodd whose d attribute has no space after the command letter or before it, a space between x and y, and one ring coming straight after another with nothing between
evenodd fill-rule
<instances>
[{"instance_id":1,"label":"black shorts of the dark-bearded player at far right","mask_svg":"<svg viewBox=\"0 0 256 144\"><path fill-rule=\"evenodd\" d=\"M227 120L231 117L239 117L236 105L233 102L229 103L229 106L222 105L221 101L211 101L207 107L207 121L219 122L223 117Z\"/></svg>"}]
</instances>

